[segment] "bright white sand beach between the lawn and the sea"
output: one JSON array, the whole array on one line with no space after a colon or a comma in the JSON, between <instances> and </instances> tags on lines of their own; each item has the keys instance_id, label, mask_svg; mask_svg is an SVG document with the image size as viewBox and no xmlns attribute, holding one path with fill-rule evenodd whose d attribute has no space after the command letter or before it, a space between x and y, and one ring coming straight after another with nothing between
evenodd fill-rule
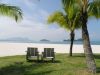
<instances>
[{"instance_id":1,"label":"bright white sand beach between the lawn and the sea","mask_svg":"<svg viewBox=\"0 0 100 75\"><path fill-rule=\"evenodd\" d=\"M41 53L44 48L54 48L56 53L69 53L69 44L0 43L0 57L25 55L27 47L37 47ZM100 45L92 45L93 53L100 53ZM84 53L83 45L74 45L73 53Z\"/></svg>"}]
</instances>

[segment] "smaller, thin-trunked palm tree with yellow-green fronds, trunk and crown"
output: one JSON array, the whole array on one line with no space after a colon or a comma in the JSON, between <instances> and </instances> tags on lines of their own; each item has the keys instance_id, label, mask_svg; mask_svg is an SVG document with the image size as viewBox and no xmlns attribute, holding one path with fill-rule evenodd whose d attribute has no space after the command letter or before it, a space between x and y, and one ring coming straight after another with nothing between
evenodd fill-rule
<instances>
[{"instance_id":1,"label":"smaller, thin-trunked palm tree with yellow-green fronds, trunk and crown","mask_svg":"<svg viewBox=\"0 0 100 75\"><path fill-rule=\"evenodd\" d=\"M70 1L69 1L70 2ZM62 3L63 4L63 3ZM73 41L75 38L75 29L81 28L81 25L79 24L79 13L73 13L73 10L78 10L74 6L64 6L64 13L56 11L53 14L51 14L48 17L48 23L54 23L56 22L60 27L69 30L70 31L70 51L69 51L69 56L72 56L72 48L73 48Z\"/></svg>"}]
</instances>

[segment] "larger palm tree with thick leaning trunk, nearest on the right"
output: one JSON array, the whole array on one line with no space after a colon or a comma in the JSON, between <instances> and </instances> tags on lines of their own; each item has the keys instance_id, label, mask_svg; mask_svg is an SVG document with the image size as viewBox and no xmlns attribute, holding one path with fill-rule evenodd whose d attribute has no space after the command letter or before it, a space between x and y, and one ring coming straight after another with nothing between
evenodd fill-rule
<instances>
[{"instance_id":1,"label":"larger palm tree with thick leaning trunk, nearest on the right","mask_svg":"<svg viewBox=\"0 0 100 75\"><path fill-rule=\"evenodd\" d=\"M65 5L68 0L62 0ZM83 47L86 56L87 67L90 72L96 73L96 64L90 44L89 33L87 29L88 18L94 16L100 18L100 0L71 0L70 5L77 6L80 9L80 20L82 22ZM74 2L73 2L74 1Z\"/></svg>"}]
</instances>

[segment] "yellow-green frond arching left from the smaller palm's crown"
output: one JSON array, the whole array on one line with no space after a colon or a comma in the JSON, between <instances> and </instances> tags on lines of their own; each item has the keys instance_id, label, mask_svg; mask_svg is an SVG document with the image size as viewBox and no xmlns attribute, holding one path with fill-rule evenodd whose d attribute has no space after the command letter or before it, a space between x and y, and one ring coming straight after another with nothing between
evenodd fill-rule
<instances>
[{"instance_id":1,"label":"yellow-green frond arching left from the smaller palm's crown","mask_svg":"<svg viewBox=\"0 0 100 75\"><path fill-rule=\"evenodd\" d=\"M63 27L67 30L70 29L68 25L68 18L62 12L54 12L48 17L47 22L50 23L57 23L60 27Z\"/></svg>"}]
</instances>

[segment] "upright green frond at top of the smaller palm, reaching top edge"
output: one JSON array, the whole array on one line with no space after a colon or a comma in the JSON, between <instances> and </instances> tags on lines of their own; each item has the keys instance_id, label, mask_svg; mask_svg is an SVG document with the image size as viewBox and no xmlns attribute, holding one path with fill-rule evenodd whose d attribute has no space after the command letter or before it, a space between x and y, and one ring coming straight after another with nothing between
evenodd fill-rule
<instances>
[{"instance_id":1,"label":"upright green frond at top of the smaller palm, reaching top edge","mask_svg":"<svg viewBox=\"0 0 100 75\"><path fill-rule=\"evenodd\" d=\"M76 1L77 0L62 0L63 9L70 20L73 19L77 11L80 11L80 6Z\"/></svg>"}]
</instances>

